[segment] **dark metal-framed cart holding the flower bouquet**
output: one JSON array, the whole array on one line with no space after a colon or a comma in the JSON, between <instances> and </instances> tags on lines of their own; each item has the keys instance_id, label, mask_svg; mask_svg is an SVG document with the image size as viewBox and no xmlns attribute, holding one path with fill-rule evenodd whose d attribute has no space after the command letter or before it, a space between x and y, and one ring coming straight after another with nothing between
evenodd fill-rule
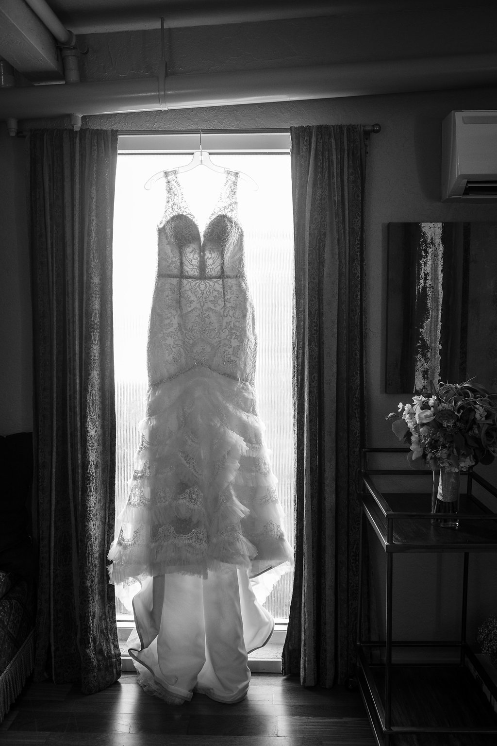
<instances>
[{"instance_id":1,"label":"dark metal-framed cart holding the flower bouquet","mask_svg":"<svg viewBox=\"0 0 497 746\"><path fill-rule=\"evenodd\" d=\"M497 552L497 489L475 472L467 474L458 529L431 524L431 494L380 492L375 477L431 474L414 469L367 468L369 454L407 454L403 448L364 448L361 478L361 538L358 608L358 683L379 746L495 746L497 686L466 642L469 554ZM491 495L496 512L472 495L474 483ZM437 516L440 517L440 516ZM384 639L363 639L361 630L368 524L386 553ZM399 553L463 553L460 638L393 640L393 558ZM497 592L496 592L497 602ZM400 663L395 648L455 648L455 662ZM471 670L472 669L472 670ZM457 734L457 735L456 735Z\"/></svg>"}]
</instances>

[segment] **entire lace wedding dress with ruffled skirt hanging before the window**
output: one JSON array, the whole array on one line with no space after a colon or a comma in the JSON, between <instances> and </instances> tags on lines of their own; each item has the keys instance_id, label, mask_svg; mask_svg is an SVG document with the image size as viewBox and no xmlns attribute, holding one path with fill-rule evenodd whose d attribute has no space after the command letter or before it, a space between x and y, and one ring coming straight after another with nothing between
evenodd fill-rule
<instances>
[{"instance_id":1,"label":"entire lace wedding dress with ruffled skirt hanging before the window","mask_svg":"<svg viewBox=\"0 0 497 746\"><path fill-rule=\"evenodd\" d=\"M237 184L227 172L201 238L177 172L165 172L147 410L109 553L110 582L141 585L130 648L139 681L177 703L193 691L244 698L247 653L273 632L257 587L293 561L256 406Z\"/></svg>"}]
</instances>

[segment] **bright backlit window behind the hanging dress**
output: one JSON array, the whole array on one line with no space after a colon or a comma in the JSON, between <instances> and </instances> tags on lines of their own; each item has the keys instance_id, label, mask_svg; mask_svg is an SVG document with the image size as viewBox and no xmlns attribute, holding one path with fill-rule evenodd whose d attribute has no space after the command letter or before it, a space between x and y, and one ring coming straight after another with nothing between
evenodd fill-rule
<instances>
[{"instance_id":1,"label":"bright backlit window behind the hanging dress","mask_svg":"<svg viewBox=\"0 0 497 746\"><path fill-rule=\"evenodd\" d=\"M265 439L279 481L285 531L292 542L294 255L290 138L288 133L203 134L202 138L202 147L210 152L214 163L244 172L259 185L253 191L246 182L239 182L238 210L244 227L247 276L256 308L259 413L265 423ZM198 146L198 134L119 138L113 244L117 514L127 502L127 484L139 443L137 425L145 416L146 345L156 271L156 225L164 210L164 181L159 179L150 190L144 185L156 172L189 163ZM180 178L187 201L202 222L203 217L208 218L214 201L211 185L221 184L223 178L201 167L181 174ZM206 214L199 214L202 212ZM266 602L276 621L288 619L292 582L291 573L286 573ZM129 615L130 610L118 602L118 614Z\"/></svg>"}]
</instances>

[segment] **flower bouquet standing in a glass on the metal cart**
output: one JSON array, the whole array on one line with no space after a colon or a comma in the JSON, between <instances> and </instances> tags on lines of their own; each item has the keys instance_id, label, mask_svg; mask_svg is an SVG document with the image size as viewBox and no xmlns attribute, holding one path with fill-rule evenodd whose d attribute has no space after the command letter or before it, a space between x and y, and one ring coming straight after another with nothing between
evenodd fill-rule
<instances>
[{"instance_id":1,"label":"flower bouquet standing in a glass on the metal cart","mask_svg":"<svg viewBox=\"0 0 497 746\"><path fill-rule=\"evenodd\" d=\"M430 382L430 388L431 395L414 396L412 404L399 402L387 419L397 418L392 430L409 445L410 466L433 471L431 511L446 515L434 522L457 527L451 515L458 512L460 471L497 456L497 394L470 380Z\"/></svg>"}]
</instances>

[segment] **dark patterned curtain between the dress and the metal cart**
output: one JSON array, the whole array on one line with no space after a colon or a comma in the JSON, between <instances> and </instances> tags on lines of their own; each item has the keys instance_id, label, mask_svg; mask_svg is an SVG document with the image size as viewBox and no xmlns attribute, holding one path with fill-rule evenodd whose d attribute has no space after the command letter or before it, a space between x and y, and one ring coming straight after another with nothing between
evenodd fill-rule
<instances>
[{"instance_id":1,"label":"dark patterned curtain between the dress and the metal cart","mask_svg":"<svg viewBox=\"0 0 497 746\"><path fill-rule=\"evenodd\" d=\"M364 137L352 125L291 129L295 580L283 669L300 674L304 686L355 675Z\"/></svg>"}]
</instances>

